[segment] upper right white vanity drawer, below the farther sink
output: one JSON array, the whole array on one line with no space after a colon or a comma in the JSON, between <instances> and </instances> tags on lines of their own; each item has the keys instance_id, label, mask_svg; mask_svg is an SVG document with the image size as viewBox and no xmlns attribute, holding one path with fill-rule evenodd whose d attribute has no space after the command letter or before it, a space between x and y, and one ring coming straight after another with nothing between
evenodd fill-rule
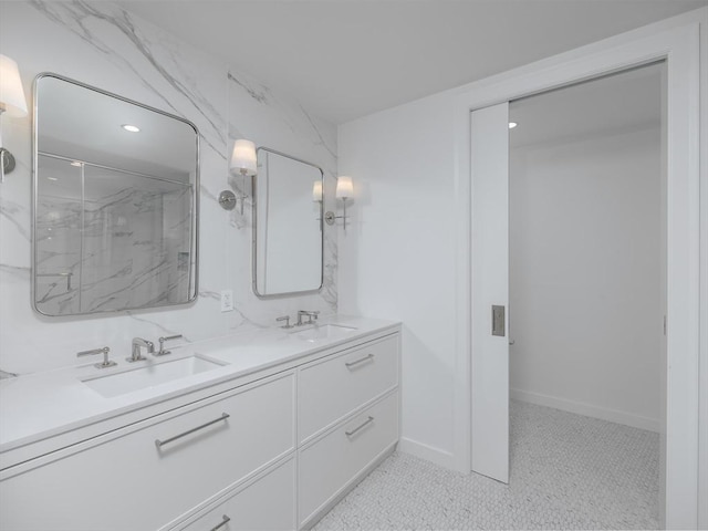
<instances>
[{"instance_id":1,"label":"upper right white vanity drawer, below the farther sink","mask_svg":"<svg viewBox=\"0 0 708 531\"><path fill-rule=\"evenodd\" d=\"M398 384L398 335L314 362L299 377L303 441Z\"/></svg>"}]
</instances>

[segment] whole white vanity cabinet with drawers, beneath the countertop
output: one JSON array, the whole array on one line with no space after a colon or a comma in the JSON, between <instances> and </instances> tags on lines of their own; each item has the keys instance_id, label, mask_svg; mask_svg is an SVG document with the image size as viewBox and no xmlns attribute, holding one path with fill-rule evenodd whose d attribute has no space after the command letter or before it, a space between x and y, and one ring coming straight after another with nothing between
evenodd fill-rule
<instances>
[{"instance_id":1,"label":"whole white vanity cabinet with drawers, beneath the countertop","mask_svg":"<svg viewBox=\"0 0 708 531\"><path fill-rule=\"evenodd\" d=\"M399 341L388 325L38 439L0 471L0 530L306 529L398 441Z\"/></svg>"}]
</instances>

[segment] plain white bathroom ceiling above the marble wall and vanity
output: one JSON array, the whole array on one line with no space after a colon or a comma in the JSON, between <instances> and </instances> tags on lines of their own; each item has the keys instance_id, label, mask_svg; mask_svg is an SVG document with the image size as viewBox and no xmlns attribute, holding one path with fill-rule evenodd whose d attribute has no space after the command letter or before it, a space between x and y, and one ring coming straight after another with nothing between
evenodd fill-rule
<instances>
[{"instance_id":1,"label":"plain white bathroom ceiling above the marble wall and vanity","mask_svg":"<svg viewBox=\"0 0 708 531\"><path fill-rule=\"evenodd\" d=\"M334 124L708 0L123 0Z\"/></svg>"}]
</instances>

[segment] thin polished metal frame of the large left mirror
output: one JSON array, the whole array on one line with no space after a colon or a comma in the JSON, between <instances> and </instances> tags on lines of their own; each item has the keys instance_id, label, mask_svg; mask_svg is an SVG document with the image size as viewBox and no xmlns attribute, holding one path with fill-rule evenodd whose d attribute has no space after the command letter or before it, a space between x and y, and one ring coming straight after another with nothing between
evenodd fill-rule
<instances>
[{"instance_id":1,"label":"thin polished metal frame of the large left mirror","mask_svg":"<svg viewBox=\"0 0 708 531\"><path fill-rule=\"evenodd\" d=\"M56 80L60 81L64 81L66 83L72 83L76 86L80 86L82 88L87 88L90 91L94 91L97 92L100 94L103 94L105 96L108 97L113 97L116 100L119 100L122 102L125 103L129 103L132 105L136 105L138 107L145 108L147 111L152 111L154 113L157 114L162 114L163 116L167 116L169 118L173 119L177 119L179 122L183 122L184 124L188 125L189 127L191 127L195 132L195 183L194 183L194 216L191 217L191 241L194 242L194 252L195 252L195 258L194 258L194 275L190 275L189 282L190 284L194 284L194 293L190 293L189 299L184 301L184 302L171 302L171 303L165 303L165 304L159 304L157 306L137 306L137 308L123 308L123 309L115 309L115 310L95 310L95 311L91 311L91 312L77 312L77 313L69 313L66 315L56 315L56 314L48 314L42 312L38 305L37 305L37 296L35 296L35 292L37 292L37 263L35 263L35 257L37 257L37 244L38 244L38 240L37 240L37 212L38 212L38 158L39 158L39 143L38 143L38 117L39 117L39 108L38 108L38 92L39 92L39 82L40 80L42 80L43 77L54 77ZM177 116L175 114L170 114L167 113L165 111L162 111L159 108L155 108L152 107L149 105L145 105L144 103L140 102L136 102L135 100L131 100L124 96L121 96L118 94L115 94L113 92L108 92L108 91L104 91L103 88L98 88L96 86L93 85L88 85L86 83L82 83L81 81L76 81L76 80L72 80L71 77L66 77L64 75L61 74L55 74L53 72L41 72L37 75L37 77L34 77L34 81L32 83L32 97L33 97L33 102L32 102L32 208L31 208L31 221L32 221L32 227L31 227L31 232L32 232L32 242L31 242L31 251L32 251L32 256L31 256L31 272L30 272L30 298L32 299L32 309L39 313L40 315L46 316L46 317L54 317L54 319L71 319L74 316L80 316L80 315L95 315L95 314L115 314L115 313L127 313L127 312L142 312L142 311L147 311L147 310L156 310L156 309L162 309L162 308L173 308L173 306L183 306L185 304L191 304L194 303L198 298L199 298L199 204L200 204L200 174L201 174L201 167L200 167L200 160L201 160L201 156L200 156L200 135L199 135L199 129L197 128L197 126L191 123L190 121L181 117L181 116ZM191 246L190 246L191 247Z\"/></svg>"}]
</instances>

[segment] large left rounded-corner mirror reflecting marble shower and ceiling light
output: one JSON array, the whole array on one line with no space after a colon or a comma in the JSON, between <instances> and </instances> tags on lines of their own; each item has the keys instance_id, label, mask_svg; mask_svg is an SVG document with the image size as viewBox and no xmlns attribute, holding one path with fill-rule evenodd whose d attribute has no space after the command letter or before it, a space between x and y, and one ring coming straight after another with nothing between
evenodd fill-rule
<instances>
[{"instance_id":1,"label":"large left rounded-corner mirror reflecting marble shower and ceiling light","mask_svg":"<svg viewBox=\"0 0 708 531\"><path fill-rule=\"evenodd\" d=\"M56 74L34 81L32 302L50 316L197 296L199 135Z\"/></svg>"}]
</instances>

